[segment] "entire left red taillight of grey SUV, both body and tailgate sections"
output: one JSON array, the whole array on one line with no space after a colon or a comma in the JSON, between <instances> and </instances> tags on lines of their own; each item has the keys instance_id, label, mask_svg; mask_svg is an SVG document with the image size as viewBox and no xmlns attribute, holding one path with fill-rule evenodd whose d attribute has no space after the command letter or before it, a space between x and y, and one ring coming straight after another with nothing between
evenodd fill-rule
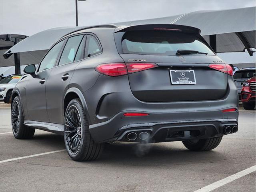
<instances>
[{"instance_id":1,"label":"entire left red taillight of grey SUV, both body and tailgate sections","mask_svg":"<svg viewBox=\"0 0 256 192\"><path fill-rule=\"evenodd\" d=\"M95 70L108 76L121 76L150 68L158 67L154 63L106 63L95 67Z\"/></svg>"}]
</instances>

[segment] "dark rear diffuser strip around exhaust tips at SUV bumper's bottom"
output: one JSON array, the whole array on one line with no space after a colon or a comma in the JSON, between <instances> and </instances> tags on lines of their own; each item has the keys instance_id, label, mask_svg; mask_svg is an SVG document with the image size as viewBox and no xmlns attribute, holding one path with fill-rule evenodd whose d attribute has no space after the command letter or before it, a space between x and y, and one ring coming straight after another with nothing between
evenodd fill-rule
<instances>
[{"instance_id":1,"label":"dark rear diffuser strip around exhaust tips at SUV bumper's bottom","mask_svg":"<svg viewBox=\"0 0 256 192\"><path fill-rule=\"evenodd\" d=\"M137 138L132 142L143 142L144 139L140 138L140 133L147 132L147 142L169 142L169 141L182 141L188 139L204 139L223 136L224 129L230 126L238 127L236 120L225 122L223 120L207 120L207 121L193 121L193 122L159 122L145 124L128 125L125 130L118 132L116 140L131 141L128 139L129 133L136 133ZM230 133L233 133L232 131Z\"/></svg>"}]
</instances>

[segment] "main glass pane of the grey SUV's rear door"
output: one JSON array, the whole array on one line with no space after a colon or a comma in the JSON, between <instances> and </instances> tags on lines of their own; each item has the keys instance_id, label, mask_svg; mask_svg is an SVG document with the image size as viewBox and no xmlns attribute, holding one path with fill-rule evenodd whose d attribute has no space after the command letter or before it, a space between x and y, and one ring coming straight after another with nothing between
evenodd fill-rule
<instances>
[{"instance_id":1,"label":"main glass pane of the grey SUV's rear door","mask_svg":"<svg viewBox=\"0 0 256 192\"><path fill-rule=\"evenodd\" d=\"M63 65L74 61L76 52L78 50L80 42L82 41L83 36L84 35L78 35L68 38L68 41L60 57L59 65Z\"/></svg>"}]
</instances>

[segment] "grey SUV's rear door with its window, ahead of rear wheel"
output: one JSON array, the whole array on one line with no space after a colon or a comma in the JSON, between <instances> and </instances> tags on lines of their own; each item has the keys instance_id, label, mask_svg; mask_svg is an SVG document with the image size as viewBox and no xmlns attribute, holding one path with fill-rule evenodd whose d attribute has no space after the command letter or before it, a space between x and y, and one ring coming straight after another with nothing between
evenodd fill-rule
<instances>
[{"instance_id":1,"label":"grey SUV's rear door with its window, ahead of rear wheel","mask_svg":"<svg viewBox=\"0 0 256 192\"><path fill-rule=\"evenodd\" d=\"M76 66L84 58L86 35L68 38L57 66L52 69L46 84L47 112L51 123L63 124L63 99Z\"/></svg>"}]
</instances>

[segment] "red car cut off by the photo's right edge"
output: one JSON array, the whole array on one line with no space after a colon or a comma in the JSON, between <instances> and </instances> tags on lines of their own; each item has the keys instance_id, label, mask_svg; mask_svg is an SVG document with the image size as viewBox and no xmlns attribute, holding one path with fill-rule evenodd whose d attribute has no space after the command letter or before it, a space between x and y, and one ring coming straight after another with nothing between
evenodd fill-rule
<instances>
[{"instance_id":1,"label":"red car cut off by the photo's right edge","mask_svg":"<svg viewBox=\"0 0 256 192\"><path fill-rule=\"evenodd\" d=\"M255 76L246 80L242 85L241 101L244 109L254 109L255 107Z\"/></svg>"}]
</instances>

